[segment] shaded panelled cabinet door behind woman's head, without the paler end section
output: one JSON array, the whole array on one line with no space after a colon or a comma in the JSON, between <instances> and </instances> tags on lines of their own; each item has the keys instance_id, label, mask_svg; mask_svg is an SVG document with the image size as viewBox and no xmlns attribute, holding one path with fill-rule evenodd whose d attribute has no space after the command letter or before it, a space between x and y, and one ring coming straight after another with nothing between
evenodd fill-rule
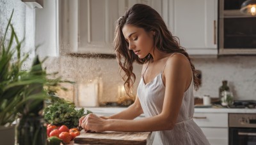
<instances>
[{"instance_id":1,"label":"shaded panelled cabinet door behind woman's head, without the paler end section","mask_svg":"<svg viewBox=\"0 0 256 145\"><path fill-rule=\"evenodd\" d=\"M161 12L161 1L155 0L79 0L78 52L113 53L116 20L136 3Z\"/></svg>"}]
</instances>

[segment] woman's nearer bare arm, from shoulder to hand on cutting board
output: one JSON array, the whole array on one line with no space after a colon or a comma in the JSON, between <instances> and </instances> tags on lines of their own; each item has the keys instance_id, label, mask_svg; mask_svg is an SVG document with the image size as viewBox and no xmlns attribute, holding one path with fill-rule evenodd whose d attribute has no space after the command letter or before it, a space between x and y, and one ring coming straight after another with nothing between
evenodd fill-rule
<instances>
[{"instance_id":1,"label":"woman's nearer bare arm, from shoulder to hand on cutting board","mask_svg":"<svg viewBox=\"0 0 256 145\"><path fill-rule=\"evenodd\" d=\"M191 67L186 57L179 54L173 55L166 64L166 90L163 111L160 114L140 120L103 120L94 114L89 114L84 118L82 127L97 132L105 130L120 132L171 130L177 121L183 95L191 77Z\"/></svg>"}]
</instances>

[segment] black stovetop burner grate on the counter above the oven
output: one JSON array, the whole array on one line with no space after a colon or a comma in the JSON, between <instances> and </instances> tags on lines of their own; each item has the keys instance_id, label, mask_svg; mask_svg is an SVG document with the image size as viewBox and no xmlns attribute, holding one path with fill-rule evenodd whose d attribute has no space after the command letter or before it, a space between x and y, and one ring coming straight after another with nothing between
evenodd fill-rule
<instances>
[{"instance_id":1,"label":"black stovetop burner grate on the counter above the oven","mask_svg":"<svg viewBox=\"0 0 256 145\"><path fill-rule=\"evenodd\" d=\"M235 100L231 108L256 108L256 100Z\"/></svg>"}]
</instances>

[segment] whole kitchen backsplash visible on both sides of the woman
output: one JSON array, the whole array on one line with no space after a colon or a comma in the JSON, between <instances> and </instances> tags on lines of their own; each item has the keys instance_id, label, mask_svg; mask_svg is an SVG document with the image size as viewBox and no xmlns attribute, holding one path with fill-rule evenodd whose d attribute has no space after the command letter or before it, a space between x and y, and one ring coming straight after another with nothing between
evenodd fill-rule
<instances>
[{"instance_id":1,"label":"whole kitchen backsplash visible on both sides of the woman","mask_svg":"<svg viewBox=\"0 0 256 145\"><path fill-rule=\"evenodd\" d=\"M221 81L227 79L235 99L256 99L256 57L236 56L216 58L192 59L196 69L202 71L202 87L195 92L195 96L210 95L218 97L218 88ZM115 59L83 59L77 57L51 57L45 62L48 72L59 71L63 79L76 81L74 96L76 98L77 85L88 83L102 78L103 95L99 102L116 102L118 100L118 85L123 81L118 73L118 63ZM136 94L138 82L141 77L141 66L134 66Z\"/></svg>"}]
</instances>

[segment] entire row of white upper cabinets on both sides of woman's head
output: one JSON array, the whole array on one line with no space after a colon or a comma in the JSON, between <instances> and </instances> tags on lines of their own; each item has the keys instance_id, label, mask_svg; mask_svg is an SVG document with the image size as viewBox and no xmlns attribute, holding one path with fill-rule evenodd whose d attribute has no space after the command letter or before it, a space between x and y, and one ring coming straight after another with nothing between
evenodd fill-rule
<instances>
[{"instance_id":1,"label":"entire row of white upper cabinets on both sides of woman's head","mask_svg":"<svg viewBox=\"0 0 256 145\"><path fill-rule=\"evenodd\" d=\"M116 20L136 3L158 11L189 54L217 54L217 0L63 0L61 50L113 54Z\"/></svg>"}]
</instances>

